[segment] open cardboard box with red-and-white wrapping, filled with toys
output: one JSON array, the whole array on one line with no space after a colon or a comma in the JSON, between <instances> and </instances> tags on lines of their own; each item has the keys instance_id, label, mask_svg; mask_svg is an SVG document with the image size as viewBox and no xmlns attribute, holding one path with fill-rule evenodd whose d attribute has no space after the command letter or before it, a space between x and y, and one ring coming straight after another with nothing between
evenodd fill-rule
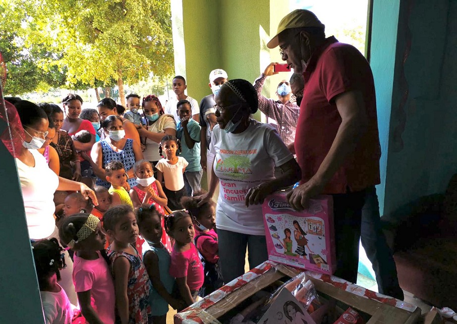
<instances>
[{"instance_id":1,"label":"open cardboard box with red-and-white wrapping, filled with toys","mask_svg":"<svg viewBox=\"0 0 457 324\"><path fill-rule=\"evenodd\" d=\"M280 310L273 314L276 315L273 320L282 316L284 322L279 323L291 323L286 319L286 313L296 317L299 311L295 308L293 312L289 305L284 310L286 303L282 303L279 297L284 289L316 324L335 323L348 307L356 310L367 324L414 324L420 318L419 308L341 278L314 271L300 272L296 268L266 261L175 314L174 323L259 324L269 309L265 307L271 307L275 302L282 304L283 311L282 315L278 314Z\"/></svg>"}]
</instances>

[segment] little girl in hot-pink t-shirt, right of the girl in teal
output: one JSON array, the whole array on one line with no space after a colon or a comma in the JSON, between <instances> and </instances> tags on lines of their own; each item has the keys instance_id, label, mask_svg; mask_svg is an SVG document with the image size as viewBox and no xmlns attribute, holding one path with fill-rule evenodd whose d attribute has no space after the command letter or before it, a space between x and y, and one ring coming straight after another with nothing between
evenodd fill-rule
<instances>
[{"instance_id":1,"label":"little girl in hot-pink t-shirt, right of the girl in teal","mask_svg":"<svg viewBox=\"0 0 457 324\"><path fill-rule=\"evenodd\" d=\"M192 218L185 211L175 211L165 216L165 230L174 239L170 275L176 278L179 293L187 307L196 301L204 280L203 265L192 243L195 235Z\"/></svg>"}]
</instances>

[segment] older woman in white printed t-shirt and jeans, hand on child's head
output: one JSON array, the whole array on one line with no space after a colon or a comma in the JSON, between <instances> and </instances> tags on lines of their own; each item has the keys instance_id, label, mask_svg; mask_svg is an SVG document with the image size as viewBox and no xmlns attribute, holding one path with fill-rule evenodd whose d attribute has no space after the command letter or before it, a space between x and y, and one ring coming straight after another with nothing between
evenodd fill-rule
<instances>
[{"instance_id":1,"label":"older woman in white printed t-shirt and jeans, hand on child's head","mask_svg":"<svg viewBox=\"0 0 457 324\"><path fill-rule=\"evenodd\" d=\"M229 80L221 87L215 108L218 125L210 144L215 159L202 203L211 199L219 183L216 228L228 282L244 273L246 248L250 268L268 259L261 203L268 194L294 184L301 173L278 132L250 118L258 109L252 84ZM283 170L276 179L275 166Z\"/></svg>"}]
</instances>

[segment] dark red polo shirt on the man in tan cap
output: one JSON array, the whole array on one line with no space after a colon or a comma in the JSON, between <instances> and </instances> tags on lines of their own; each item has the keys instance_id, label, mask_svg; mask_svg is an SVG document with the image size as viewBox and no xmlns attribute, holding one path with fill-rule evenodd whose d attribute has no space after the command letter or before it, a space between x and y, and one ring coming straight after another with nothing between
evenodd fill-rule
<instances>
[{"instance_id":1,"label":"dark red polo shirt on the man in tan cap","mask_svg":"<svg viewBox=\"0 0 457 324\"><path fill-rule=\"evenodd\" d=\"M295 135L301 183L316 174L341 125L335 96L359 90L365 101L368 128L323 194L356 192L379 184L381 146L376 96L373 74L366 59L355 47L339 43L332 36L313 53L303 77L305 88Z\"/></svg>"}]
</instances>

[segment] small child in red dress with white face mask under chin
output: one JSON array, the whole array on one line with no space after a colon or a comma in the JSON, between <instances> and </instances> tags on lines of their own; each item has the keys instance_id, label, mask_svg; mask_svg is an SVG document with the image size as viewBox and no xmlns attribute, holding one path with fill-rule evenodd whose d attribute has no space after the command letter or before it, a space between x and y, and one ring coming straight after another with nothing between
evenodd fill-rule
<instances>
[{"instance_id":1,"label":"small child in red dress with white face mask under chin","mask_svg":"<svg viewBox=\"0 0 457 324\"><path fill-rule=\"evenodd\" d=\"M164 207L167 206L168 199L162 189L162 185L154 178L152 165L149 161L140 160L133 166L133 173L138 185L130 190L130 198L135 208L143 204L154 205L157 211L164 215ZM162 218L162 229L164 228L164 219ZM162 231L162 244L171 251L170 238L165 230Z\"/></svg>"}]
</instances>

